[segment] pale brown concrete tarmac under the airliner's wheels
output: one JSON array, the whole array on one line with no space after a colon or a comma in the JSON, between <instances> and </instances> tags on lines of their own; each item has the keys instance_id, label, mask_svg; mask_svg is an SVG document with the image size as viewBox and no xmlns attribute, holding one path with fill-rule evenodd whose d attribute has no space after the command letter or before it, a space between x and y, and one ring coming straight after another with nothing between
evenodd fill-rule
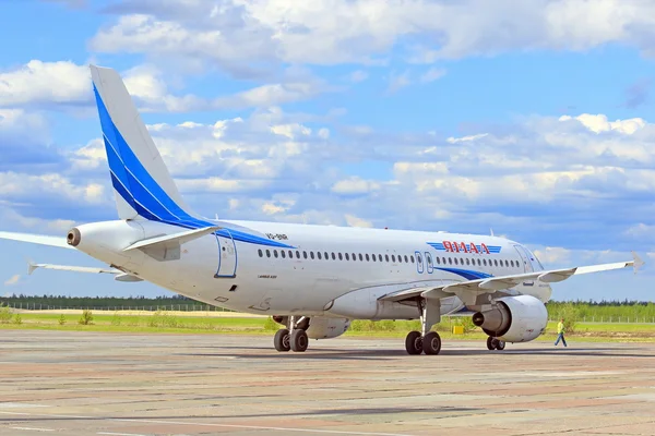
<instances>
[{"instance_id":1,"label":"pale brown concrete tarmac under the airliner's wheels","mask_svg":"<svg viewBox=\"0 0 655 436\"><path fill-rule=\"evenodd\" d=\"M403 342L0 330L0 435L655 435L655 344Z\"/></svg>"}]
</instances>

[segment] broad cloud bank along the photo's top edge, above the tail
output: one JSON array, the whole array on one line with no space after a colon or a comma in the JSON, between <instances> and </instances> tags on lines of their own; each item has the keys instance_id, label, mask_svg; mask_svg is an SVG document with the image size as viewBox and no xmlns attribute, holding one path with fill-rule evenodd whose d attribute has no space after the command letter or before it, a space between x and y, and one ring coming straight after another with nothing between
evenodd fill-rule
<instances>
[{"instance_id":1,"label":"broad cloud bank along the photo's top edge, above the tail","mask_svg":"<svg viewBox=\"0 0 655 436\"><path fill-rule=\"evenodd\" d=\"M653 1L284 0L121 2L91 47L213 62L234 74L262 64L376 63L401 46L414 62L508 50L629 44L650 55Z\"/></svg>"}]
</instances>

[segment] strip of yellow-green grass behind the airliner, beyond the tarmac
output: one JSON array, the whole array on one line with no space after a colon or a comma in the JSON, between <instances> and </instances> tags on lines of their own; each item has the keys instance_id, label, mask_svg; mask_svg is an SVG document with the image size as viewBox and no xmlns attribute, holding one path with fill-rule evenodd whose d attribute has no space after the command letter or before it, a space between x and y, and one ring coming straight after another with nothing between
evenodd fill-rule
<instances>
[{"instance_id":1,"label":"strip of yellow-green grass behind the airliner, beyond the tarmac","mask_svg":"<svg viewBox=\"0 0 655 436\"><path fill-rule=\"evenodd\" d=\"M15 317L0 323L0 329L46 329L62 331L107 331L124 334L229 334L229 335L272 335L281 326L270 318L258 317L216 317L216 316L177 316L166 312L150 315L93 314L93 324L80 325L81 315L74 314L21 314L22 324ZM465 335L453 335L452 326L462 323ZM398 338L410 330L419 330L417 320L356 320L345 337L356 338ZM453 318L437 326L444 340L486 340L487 336L471 324L469 318ZM553 341L556 323L549 323L545 335L538 341ZM611 341L611 342L655 342L653 324L577 324L574 334L567 335L570 341Z\"/></svg>"}]
</instances>

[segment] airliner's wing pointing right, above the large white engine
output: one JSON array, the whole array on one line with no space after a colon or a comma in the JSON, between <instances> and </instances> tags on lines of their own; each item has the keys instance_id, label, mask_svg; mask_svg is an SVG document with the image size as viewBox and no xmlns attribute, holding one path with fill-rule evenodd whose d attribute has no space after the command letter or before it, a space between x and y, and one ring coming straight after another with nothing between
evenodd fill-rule
<instances>
[{"instance_id":1,"label":"airliner's wing pointing right, above the large white engine","mask_svg":"<svg viewBox=\"0 0 655 436\"><path fill-rule=\"evenodd\" d=\"M475 304L478 295L485 293L493 293L505 289L511 289L523 281L539 280L543 283L555 283L563 281L572 276L582 274L609 271L612 269L621 269L632 266L634 271L644 264L643 261L632 252L632 261L617 262L614 264L600 264L591 266L579 266L565 269L551 269L525 274L515 274L509 276L490 277L477 280L467 280L457 283L446 283L438 287L419 287L405 289L389 293L381 296L381 301L405 301L413 300L417 296L426 299L440 299L444 295L455 294L464 302L464 304Z\"/></svg>"}]
</instances>

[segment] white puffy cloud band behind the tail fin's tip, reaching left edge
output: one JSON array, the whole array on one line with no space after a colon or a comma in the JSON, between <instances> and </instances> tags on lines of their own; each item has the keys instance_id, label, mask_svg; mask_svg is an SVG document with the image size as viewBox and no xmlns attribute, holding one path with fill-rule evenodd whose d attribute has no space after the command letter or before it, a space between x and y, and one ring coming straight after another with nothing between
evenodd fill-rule
<instances>
[{"instance_id":1,"label":"white puffy cloud band behind the tail fin's tip, reaching left edge","mask_svg":"<svg viewBox=\"0 0 655 436\"><path fill-rule=\"evenodd\" d=\"M335 89L299 69L285 70L276 77L276 83L266 83L234 95L214 98L172 94L164 73L154 64L138 65L121 72L121 75L136 105L146 112L265 108L306 100ZM70 61L32 60L17 69L0 72L0 108L7 107L16 111L15 108L20 107L92 107L94 101L87 65L78 65ZM9 117L9 110L4 110L4 118ZM2 117L0 114L0 122Z\"/></svg>"}]
</instances>

